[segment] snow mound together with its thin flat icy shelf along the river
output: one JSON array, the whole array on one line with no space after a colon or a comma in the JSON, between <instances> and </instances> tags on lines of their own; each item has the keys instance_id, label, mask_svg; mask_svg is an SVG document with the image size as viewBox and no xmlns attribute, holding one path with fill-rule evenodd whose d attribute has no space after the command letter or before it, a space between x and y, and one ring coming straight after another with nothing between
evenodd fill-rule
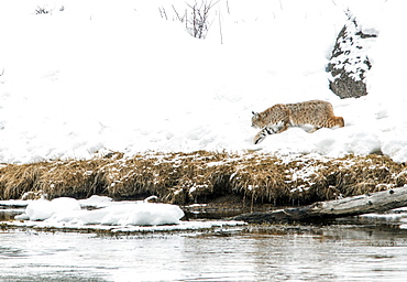
<instances>
[{"instance_id":1,"label":"snow mound together with its thin flat icy shelf along the river","mask_svg":"<svg viewBox=\"0 0 407 282\"><path fill-rule=\"evenodd\" d=\"M243 226L235 220L180 220L184 212L176 205L136 202L114 202L92 195L86 199L69 197L35 200L0 200L3 212L18 214L15 220L1 221L12 227L55 228L109 232L155 232L205 230L215 227ZM11 208L12 207L12 208ZM15 209L15 207L25 207Z\"/></svg>"}]
</instances>

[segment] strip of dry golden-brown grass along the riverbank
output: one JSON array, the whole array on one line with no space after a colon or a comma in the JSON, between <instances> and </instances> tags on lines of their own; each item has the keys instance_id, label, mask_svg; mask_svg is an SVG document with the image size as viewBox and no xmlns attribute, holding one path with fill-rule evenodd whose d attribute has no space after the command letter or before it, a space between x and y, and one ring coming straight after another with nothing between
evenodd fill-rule
<instances>
[{"instance_id":1,"label":"strip of dry golden-brown grass along the riverbank","mask_svg":"<svg viewBox=\"0 0 407 282\"><path fill-rule=\"evenodd\" d=\"M142 199L151 195L174 204L208 203L226 195L242 203L304 205L407 184L407 169L383 155L284 161L266 154L226 152L121 153L91 160L8 164L0 167L0 197L28 192L50 198Z\"/></svg>"}]
</instances>

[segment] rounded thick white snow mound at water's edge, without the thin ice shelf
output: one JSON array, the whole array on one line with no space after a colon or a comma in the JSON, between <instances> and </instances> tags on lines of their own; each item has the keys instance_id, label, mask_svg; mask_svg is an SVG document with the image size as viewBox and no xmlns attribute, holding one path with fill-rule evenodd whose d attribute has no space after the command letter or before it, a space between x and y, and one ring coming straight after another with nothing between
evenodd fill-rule
<instances>
[{"instance_id":1,"label":"rounded thick white snow mound at water's edge, without the thin ice shelf","mask_svg":"<svg viewBox=\"0 0 407 282\"><path fill-rule=\"evenodd\" d=\"M95 198L90 202L95 204ZM117 203L99 209L86 210L80 208L79 200L62 197L53 200L32 200L26 206L25 213L16 216L15 219L44 220L48 225L66 223L80 226L160 226L179 224L182 217L184 212L178 206L168 204Z\"/></svg>"}]
</instances>

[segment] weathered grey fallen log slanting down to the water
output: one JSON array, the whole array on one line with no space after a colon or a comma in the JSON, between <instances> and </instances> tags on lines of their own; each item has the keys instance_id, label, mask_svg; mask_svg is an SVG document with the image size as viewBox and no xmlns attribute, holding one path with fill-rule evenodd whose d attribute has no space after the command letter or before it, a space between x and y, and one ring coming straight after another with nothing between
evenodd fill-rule
<instances>
[{"instance_id":1,"label":"weathered grey fallen log slanting down to the water","mask_svg":"<svg viewBox=\"0 0 407 282\"><path fill-rule=\"evenodd\" d=\"M407 185L388 191L334 200L317 202L298 208L284 208L271 212L255 212L233 217L252 224L320 221L332 218L383 213L407 206Z\"/></svg>"}]
</instances>

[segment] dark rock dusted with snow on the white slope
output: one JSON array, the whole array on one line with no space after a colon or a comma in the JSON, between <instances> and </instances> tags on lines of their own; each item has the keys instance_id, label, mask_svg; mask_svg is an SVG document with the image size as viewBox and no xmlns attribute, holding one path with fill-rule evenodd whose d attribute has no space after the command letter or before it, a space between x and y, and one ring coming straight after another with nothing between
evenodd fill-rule
<instances>
[{"instance_id":1,"label":"dark rock dusted with snow on the white slope","mask_svg":"<svg viewBox=\"0 0 407 282\"><path fill-rule=\"evenodd\" d=\"M338 34L327 70L329 88L340 98L359 98L367 95L366 72L372 64L367 50L376 34L363 33L356 19L348 13L348 21Z\"/></svg>"}]
</instances>

